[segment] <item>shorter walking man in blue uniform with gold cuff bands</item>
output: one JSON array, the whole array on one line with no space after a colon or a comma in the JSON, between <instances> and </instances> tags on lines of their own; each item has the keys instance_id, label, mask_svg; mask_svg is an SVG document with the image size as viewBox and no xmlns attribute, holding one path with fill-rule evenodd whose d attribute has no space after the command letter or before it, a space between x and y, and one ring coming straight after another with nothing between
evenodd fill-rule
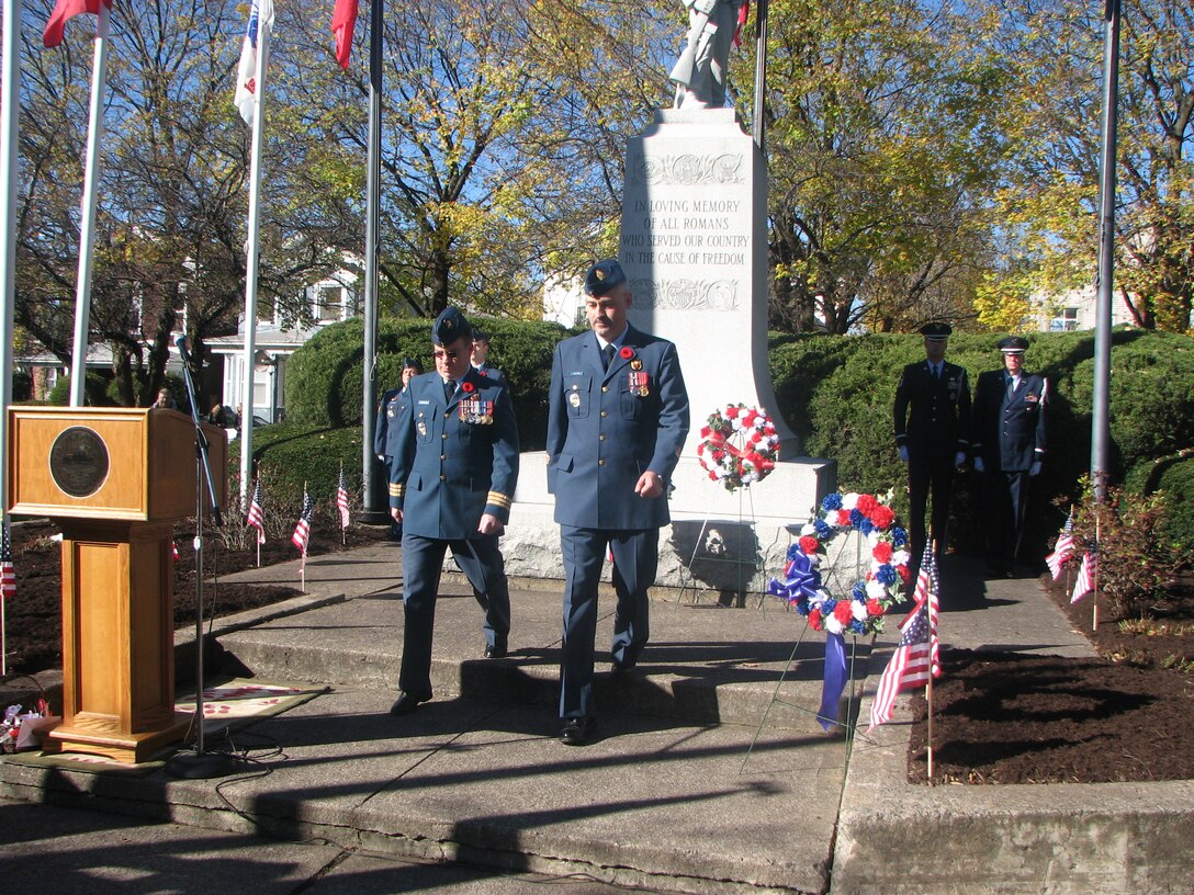
<instances>
[{"instance_id":1,"label":"shorter walking man in blue uniform with gold cuff bands","mask_svg":"<svg viewBox=\"0 0 1194 895\"><path fill-rule=\"evenodd\" d=\"M431 638L444 553L473 582L485 610L490 658L506 653L510 588L498 536L518 480L518 427L510 394L469 365L473 333L448 308L431 329L436 371L411 379L390 426L390 514L402 523L402 691L390 712L431 698Z\"/></svg>"}]
</instances>

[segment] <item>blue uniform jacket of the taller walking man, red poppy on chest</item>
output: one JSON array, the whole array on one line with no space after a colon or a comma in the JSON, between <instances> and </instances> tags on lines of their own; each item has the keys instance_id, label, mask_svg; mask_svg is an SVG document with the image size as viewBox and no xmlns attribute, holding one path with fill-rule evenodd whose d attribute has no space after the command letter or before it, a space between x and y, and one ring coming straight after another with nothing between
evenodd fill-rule
<instances>
[{"instance_id":1,"label":"blue uniform jacket of the taller walking man, red poppy on chest","mask_svg":"<svg viewBox=\"0 0 1194 895\"><path fill-rule=\"evenodd\" d=\"M609 370L602 369L593 333L560 342L547 421L547 488L555 494L555 520L614 530L666 525L666 486L688 426L688 391L670 341L629 327ZM664 496L634 493L648 469L663 477Z\"/></svg>"}]
</instances>

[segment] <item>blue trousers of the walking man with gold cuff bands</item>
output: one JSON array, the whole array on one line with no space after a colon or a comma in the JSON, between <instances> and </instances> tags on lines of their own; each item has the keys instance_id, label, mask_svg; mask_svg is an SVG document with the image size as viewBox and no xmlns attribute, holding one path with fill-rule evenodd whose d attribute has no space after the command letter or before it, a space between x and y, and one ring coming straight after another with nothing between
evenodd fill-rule
<instances>
[{"instance_id":1,"label":"blue trousers of the walking man with gold cuff bands","mask_svg":"<svg viewBox=\"0 0 1194 895\"><path fill-rule=\"evenodd\" d=\"M431 640L436 624L436 594L444 553L451 548L456 563L473 585L485 610L485 642L506 647L510 636L510 586L498 549L498 536L468 539L402 535L402 667L398 686L407 693L431 696Z\"/></svg>"}]
</instances>

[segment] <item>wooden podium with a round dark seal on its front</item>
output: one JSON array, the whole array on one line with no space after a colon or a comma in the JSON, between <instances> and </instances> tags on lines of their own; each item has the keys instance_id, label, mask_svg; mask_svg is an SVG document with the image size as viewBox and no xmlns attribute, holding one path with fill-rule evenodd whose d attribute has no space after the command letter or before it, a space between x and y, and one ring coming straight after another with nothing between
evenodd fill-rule
<instances>
[{"instance_id":1,"label":"wooden podium with a round dark seal on its front","mask_svg":"<svg viewBox=\"0 0 1194 895\"><path fill-rule=\"evenodd\" d=\"M222 506L227 437L204 432ZM172 541L195 516L195 424L160 408L12 407L6 453L8 511L62 527L62 723L45 748L144 761L191 721L174 711Z\"/></svg>"}]
</instances>

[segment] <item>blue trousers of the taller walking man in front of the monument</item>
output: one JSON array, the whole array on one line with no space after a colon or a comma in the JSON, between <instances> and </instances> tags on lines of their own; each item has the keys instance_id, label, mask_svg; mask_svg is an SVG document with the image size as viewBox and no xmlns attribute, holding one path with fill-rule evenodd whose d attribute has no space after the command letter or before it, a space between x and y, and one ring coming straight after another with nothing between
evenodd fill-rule
<instances>
[{"instance_id":1,"label":"blue trousers of the taller walking man in front of the monument","mask_svg":"<svg viewBox=\"0 0 1194 895\"><path fill-rule=\"evenodd\" d=\"M613 531L560 526L567 581L564 590L564 650L560 661L560 717L596 714L593 640L597 636L597 588L605 547L614 554L614 665L629 668L651 636L647 588L659 564L659 530Z\"/></svg>"}]
</instances>

